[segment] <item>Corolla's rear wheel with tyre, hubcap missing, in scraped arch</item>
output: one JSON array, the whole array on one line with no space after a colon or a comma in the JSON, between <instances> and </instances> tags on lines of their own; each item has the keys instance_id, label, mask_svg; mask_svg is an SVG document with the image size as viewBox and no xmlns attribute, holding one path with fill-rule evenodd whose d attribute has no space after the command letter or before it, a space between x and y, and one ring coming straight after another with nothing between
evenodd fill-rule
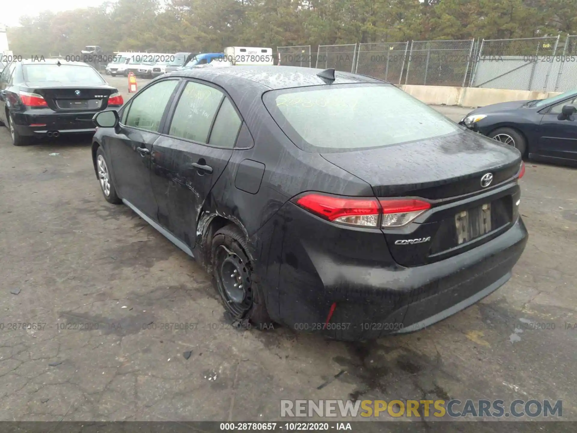
<instances>
[{"instance_id":1,"label":"Corolla's rear wheel with tyre, hubcap missing, in scraped arch","mask_svg":"<svg viewBox=\"0 0 577 433\"><path fill-rule=\"evenodd\" d=\"M224 308L235 320L269 329L272 320L244 234L237 226L225 226L215 233L211 247L213 276Z\"/></svg>"}]
</instances>

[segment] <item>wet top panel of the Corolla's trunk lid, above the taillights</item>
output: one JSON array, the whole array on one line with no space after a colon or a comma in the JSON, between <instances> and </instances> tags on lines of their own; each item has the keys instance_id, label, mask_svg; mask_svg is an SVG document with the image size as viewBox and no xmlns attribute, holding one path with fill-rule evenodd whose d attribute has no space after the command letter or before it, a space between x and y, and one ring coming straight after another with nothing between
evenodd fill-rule
<instances>
[{"instance_id":1,"label":"wet top panel of the Corolla's trunk lid, above the taillights","mask_svg":"<svg viewBox=\"0 0 577 433\"><path fill-rule=\"evenodd\" d=\"M377 197L415 196L437 200L484 190L519 171L521 156L513 147L469 131L362 151L321 154L361 178Z\"/></svg>"}]
</instances>

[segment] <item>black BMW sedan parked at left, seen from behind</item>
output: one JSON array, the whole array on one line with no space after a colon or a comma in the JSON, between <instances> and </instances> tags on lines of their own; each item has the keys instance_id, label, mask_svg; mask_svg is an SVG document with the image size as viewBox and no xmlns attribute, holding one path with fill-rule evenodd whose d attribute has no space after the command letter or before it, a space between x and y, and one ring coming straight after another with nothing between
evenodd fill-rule
<instances>
[{"instance_id":1,"label":"black BMW sedan parked at left, seen from behind","mask_svg":"<svg viewBox=\"0 0 577 433\"><path fill-rule=\"evenodd\" d=\"M16 146L35 137L95 132L92 118L121 107L122 95L85 63L23 60L0 74L0 122Z\"/></svg>"}]
</instances>

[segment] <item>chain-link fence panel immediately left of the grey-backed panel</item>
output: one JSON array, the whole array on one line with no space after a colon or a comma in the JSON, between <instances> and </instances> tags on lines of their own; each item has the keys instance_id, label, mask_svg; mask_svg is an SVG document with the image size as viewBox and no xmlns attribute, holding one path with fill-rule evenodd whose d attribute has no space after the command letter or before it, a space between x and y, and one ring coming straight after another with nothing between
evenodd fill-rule
<instances>
[{"instance_id":1,"label":"chain-link fence panel immediately left of the grey-backed panel","mask_svg":"<svg viewBox=\"0 0 577 433\"><path fill-rule=\"evenodd\" d=\"M404 84L464 86L475 40L414 40Z\"/></svg>"}]
</instances>

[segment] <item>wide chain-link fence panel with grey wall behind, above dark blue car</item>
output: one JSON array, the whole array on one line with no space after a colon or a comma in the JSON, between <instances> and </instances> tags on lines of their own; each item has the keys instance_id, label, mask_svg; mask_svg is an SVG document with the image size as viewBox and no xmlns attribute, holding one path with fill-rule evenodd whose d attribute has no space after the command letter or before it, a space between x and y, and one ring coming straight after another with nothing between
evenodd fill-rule
<instances>
[{"instance_id":1,"label":"wide chain-link fence panel with grey wall behind, above dark blue car","mask_svg":"<svg viewBox=\"0 0 577 433\"><path fill-rule=\"evenodd\" d=\"M473 87L542 90L554 79L553 65L559 36L526 39L484 39L481 42Z\"/></svg>"}]
</instances>

